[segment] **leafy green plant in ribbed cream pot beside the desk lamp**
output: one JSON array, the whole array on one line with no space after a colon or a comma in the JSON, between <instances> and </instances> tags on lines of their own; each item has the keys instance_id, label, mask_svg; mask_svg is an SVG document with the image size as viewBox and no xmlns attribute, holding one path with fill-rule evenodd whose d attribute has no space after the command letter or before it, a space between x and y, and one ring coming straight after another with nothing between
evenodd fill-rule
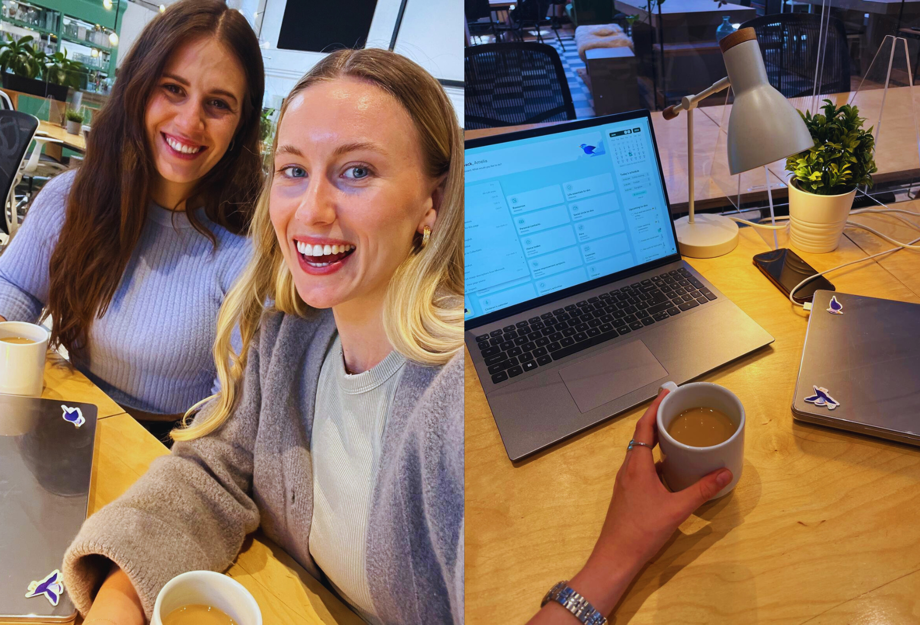
<instances>
[{"instance_id":1,"label":"leafy green plant in ribbed cream pot beside the desk lamp","mask_svg":"<svg viewBox=\"0 0 920 625\"><path fill-rule=\"evenodd\" d=\"M872 158L872 129L848 104L837 108L824 100L824 114L799 115L814 145L786 160L789 179L789 237L804 252L831 252L840 243L859 185L872 186L877 171Z\"/></svg>"}]
</instances>

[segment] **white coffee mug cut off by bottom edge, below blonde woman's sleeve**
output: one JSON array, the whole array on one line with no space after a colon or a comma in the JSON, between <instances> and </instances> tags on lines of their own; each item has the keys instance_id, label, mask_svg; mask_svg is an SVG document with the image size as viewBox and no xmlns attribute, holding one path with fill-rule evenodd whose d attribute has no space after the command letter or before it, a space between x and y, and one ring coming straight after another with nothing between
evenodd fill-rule
<instances>
[{"instance_id":1,"label":"white coffee mug cut off by bottom edge, below blonde woman's sleeve","mask_svg":"<svg viewBox=\"0 0 920 625\"><path fill-rule=\"evenodd\" d=\"M237 625L262 625L259 604L235 579L213 571L190 571L169 580L156 596L150 625L163 625L174 609L189 605L222 610Z\"/></svg>"}]
</instances>

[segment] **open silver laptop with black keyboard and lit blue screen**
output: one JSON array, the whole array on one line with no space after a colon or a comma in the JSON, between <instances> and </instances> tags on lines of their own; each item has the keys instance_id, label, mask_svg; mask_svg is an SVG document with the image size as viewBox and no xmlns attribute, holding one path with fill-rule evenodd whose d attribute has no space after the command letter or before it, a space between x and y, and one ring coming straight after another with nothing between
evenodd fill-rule
<instances>
[{"instance_id":1,"label":"open silver laptop with black keyboard and lit blue screen","mask_svg":"<svg viewBox=\"0 0 920 625\"><path fill-rule=\"evenodd\" d=\"M681 260L648 111L465 162L466 346L511 460L773 342Z\"/></svg>"}]
</instances>

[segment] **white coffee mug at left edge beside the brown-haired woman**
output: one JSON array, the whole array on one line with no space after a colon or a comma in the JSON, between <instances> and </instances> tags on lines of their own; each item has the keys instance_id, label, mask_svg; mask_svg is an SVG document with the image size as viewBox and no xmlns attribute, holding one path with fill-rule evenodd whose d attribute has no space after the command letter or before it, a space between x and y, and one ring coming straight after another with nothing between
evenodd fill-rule
<instances>
[{"instance_id":1,"label":"white coffee mug at left edge beside the brown-haired woman","mask_svg":"<svg viewBox=\"0 0 920 625\"><path fill-rule=\"evenodd\" d=\"M0 341L0 393L40 397L50 338L48 330L21 321L0 323L0 338L15 336L35 342L20 345Z\"/></svg>"}]
</instances>

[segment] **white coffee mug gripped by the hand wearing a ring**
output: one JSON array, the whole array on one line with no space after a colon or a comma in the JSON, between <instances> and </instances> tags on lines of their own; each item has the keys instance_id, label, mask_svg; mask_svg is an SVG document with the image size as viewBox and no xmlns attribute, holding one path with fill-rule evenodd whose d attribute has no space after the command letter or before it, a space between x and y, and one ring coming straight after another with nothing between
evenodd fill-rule
<instances>
[{"instance_id":1,"label":"white coffee mug gripped by the hand wearing a ring","mask_svg":"<svg viewBox=\"0 0 920 625\"><path fill-rule=\"evenodd\" d=\"M677 386L664 382L668 389L658 406L658 444L663 455L661 477L672 491L682 491L701 477L722 467L731 472L731 482L710 497L718 499L729 494L742 476L744 464L744 406L735 393L711 382L691 382ZM728 440L712 447L692 447L680 443L668 434L674 418L688 408L715 408L728 416L737 426Z\"/></svg>"}]
</instances>

